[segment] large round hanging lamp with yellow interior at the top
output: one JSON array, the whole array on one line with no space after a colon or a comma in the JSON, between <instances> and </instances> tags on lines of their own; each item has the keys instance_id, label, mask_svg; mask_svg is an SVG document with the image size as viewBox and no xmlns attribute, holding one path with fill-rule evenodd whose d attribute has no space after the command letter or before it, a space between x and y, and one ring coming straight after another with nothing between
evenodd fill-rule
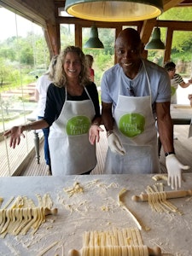
<instances>
[{"instance_id":1,"label":"large round hanging lamp with yellow interior at the top","mask_svg":"<svg viewBox=\"0 0 192 256\"><path fill-rule=\"evenodd\" d=\"M149 20L163 12L162 0L66 0L69 15L85 20Z\"/></svg>"}]
</instances>

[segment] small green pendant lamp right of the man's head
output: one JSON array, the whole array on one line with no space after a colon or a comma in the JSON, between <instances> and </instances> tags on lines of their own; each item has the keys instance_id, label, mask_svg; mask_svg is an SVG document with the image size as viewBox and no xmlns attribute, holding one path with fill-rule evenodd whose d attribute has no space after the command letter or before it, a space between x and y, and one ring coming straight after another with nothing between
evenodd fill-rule
<instances>
[{"instance_id":1,"label":"small green pendant lamp right of the man's head","mask_svg":"<svg viewBox=\"0 0 192 256\"><path fill-rule=\"evenodd\" d=\"M160 40L160 28L155 27L151 41L145 45L145 49L166 49L165 44Z\"/></svg>"}]
</instances>

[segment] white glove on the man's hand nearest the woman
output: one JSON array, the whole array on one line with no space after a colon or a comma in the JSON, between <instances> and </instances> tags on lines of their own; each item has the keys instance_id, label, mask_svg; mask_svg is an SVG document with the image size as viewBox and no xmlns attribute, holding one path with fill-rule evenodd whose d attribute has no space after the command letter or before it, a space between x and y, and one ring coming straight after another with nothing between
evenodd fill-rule
<instances>
[{"instance_id":1,"label":"white glove on the man's hand nearest the woman","mask_svg":"<svg viewBox=\"0 0 192 256\"><path fill-rule=\"evenodd\" d=\"M119 137L115 133L111 133L108 136L108 147L111 149L113 153L116 154L125 154L125 148L122 146L122 144L119 141Z\"/></svg>"}]
</instances>

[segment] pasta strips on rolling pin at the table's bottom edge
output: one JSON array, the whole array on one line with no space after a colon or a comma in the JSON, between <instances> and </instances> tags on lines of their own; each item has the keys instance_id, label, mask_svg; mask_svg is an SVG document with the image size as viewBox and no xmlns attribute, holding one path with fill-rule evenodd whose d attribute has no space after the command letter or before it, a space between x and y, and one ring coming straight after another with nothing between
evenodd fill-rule
<instances>
[{"instance_id":1,"label":"pasta strips on rolling pin at the table's bottom edge","mask_svg":"<svg viewBox=\"0 0 192 256\"><path fill-rule=\"evenodd\" d=\"M138 229L86 231L80 251L71 250L69 256L160 256L160 247L149 248L143 244Z\"/></svg>"}]
</instances>

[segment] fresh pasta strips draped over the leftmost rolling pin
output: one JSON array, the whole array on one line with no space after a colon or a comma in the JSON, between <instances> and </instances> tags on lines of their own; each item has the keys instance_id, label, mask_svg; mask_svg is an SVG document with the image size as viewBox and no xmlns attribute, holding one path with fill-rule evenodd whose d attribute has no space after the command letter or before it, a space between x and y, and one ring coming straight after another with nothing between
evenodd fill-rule
<instances>
[{"instance_id":1,"label":"fresh pasta strips draped over the leftmost rolling pin","mask_svg":"<svg viewBox=\"0 0 192 256\"><path fill-rule=\"evenodd\" d=\"M48 194L45 194L43 198L40 195L37 197L40 207L36 207L34 202L26 196L18 196L12 207L7 208L14 197L9 199L3 209L0 209L0 236L2 238L7 234L26 235L29 230L32 230L34 234L45 222L46 215L57 213L56 208L49 208L52 207L53 202Z\"/></svg>"}]
</instances>

